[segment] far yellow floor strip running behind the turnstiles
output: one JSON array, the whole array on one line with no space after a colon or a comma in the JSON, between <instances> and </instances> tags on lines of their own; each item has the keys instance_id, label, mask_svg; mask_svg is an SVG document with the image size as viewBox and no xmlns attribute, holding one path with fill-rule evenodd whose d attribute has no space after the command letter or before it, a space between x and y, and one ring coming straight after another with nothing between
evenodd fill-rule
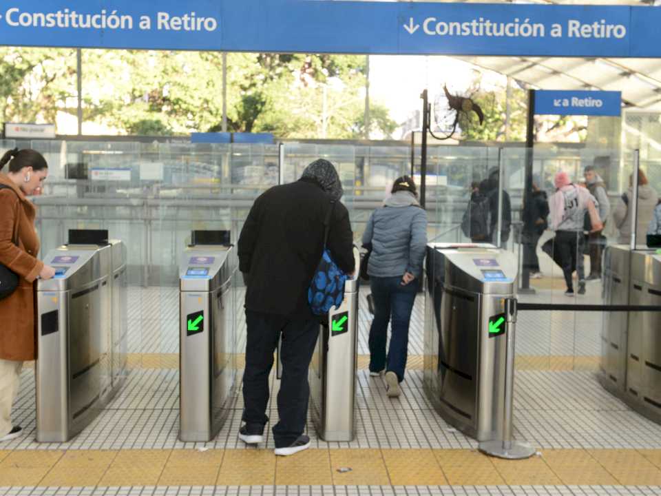
<instances>
[{"instance_id":1,"label":"far yellow floor strip running behind the turnstiles","mask_svg":"<svg viewBox=\"0 0 661 496\"><path fill-rule=\"evenodd\" d=\"M516 369L531 371L596 371L599 369L601 358L598 356L571 356L571 355L516 355ZM242 368L244 355L238 355L238 366ZM369 355L358 355L358 369L367 370L370 363ZM408 355L406 368L408 370L422 370L423 355ZM128 357L129 369L178 369L178 353L130 353Z\"/></svg>"}]
</instances>

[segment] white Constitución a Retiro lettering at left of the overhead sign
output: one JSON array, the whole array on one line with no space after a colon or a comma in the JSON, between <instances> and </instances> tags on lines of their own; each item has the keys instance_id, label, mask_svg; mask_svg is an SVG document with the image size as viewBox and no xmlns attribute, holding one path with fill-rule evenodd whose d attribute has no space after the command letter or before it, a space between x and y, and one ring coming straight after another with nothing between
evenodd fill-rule
<instances>
[{"instance_id":1,"label":"white Constituci\u00f3n a Retiro lettering at left of the overhead sign","mask_svg":"<svg viewBox=\"0 0 661 496\"><path fill-rule=\"evenodd\" d=\"M90 30L140 30L159 31L207 31L218 29L218 20L213 17L203 17L196 12L186 12L182 15L172 15L169 12L156 12L149 15L132 16L120 14L117 10L101 10L96 13L82 13L65 8L55 12L21 12L18 7L12 7L0 14L3 20L13 28L72 28Z\"/></svg>"}]
</instances>

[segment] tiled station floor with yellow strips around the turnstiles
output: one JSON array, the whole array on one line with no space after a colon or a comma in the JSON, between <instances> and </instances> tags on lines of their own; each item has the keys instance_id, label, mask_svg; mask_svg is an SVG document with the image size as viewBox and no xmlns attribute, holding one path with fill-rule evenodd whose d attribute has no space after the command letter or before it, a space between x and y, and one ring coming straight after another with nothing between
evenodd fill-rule
<instances>
[{"instance_id":1,"label":"tiled station floor with yellow strips around the turnstiles","mask_svg":"<svg viewBox=\"0 0 661 496\"><path fill-rule=\"evenodd\" d=\"M545 291L525 298L560 298ZM598 291L589 287L586 300ZM327 443L308 422L314 451L276 460L237 440L241 397L216 440L178 440L177 298L174 289L131 289L134 368L109 408L71 442L34 442L34 373L23 371L15 418L26 435L0 446L0 495L661 494L661 426L596 382L600 313L519 314L515 435L541 456L501 462L477 453L476 442L446 424L423 393L422 296L410 332L412 367L397 400L365 370L370 316L362 304L357 437ZM242 312L237 318L243 348ZM273 397L279 382L272 376L271 384ZM269 416L277 421L273 402ZM268 431L263 447L273 448Z\"/></svg>"}]
</instances>

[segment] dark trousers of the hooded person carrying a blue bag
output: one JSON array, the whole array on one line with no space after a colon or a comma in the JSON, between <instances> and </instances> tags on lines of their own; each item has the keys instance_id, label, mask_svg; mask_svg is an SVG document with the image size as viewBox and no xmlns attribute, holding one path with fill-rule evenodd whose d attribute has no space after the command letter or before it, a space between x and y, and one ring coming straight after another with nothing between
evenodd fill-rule
<instances>
[{"instance_id":1,"label":"dark trousers of the hooded person carrying a blue bag","mask_svg":"<svg viewBox=\"0 0 661 496\"><path fill-rule=\"evenodd\" d=\"M273 353L282 334L282 380L277 393L280 422L273 426L276 448L284 448L305 431L310 386L308 366L319 335L318 320L292 321L282 316L246 311L248 337L246 370L243 375L243 420L253 428L264 428L269 417L269 374Z\"/></svg>"}]
</instances>

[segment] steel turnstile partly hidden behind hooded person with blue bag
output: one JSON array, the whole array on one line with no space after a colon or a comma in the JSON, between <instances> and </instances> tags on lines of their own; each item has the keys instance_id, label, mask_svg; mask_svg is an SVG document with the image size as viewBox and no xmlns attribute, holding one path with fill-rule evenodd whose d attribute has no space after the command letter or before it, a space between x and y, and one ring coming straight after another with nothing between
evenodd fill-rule
<instances>
[{"instance_id":1,"label":"steel turnstile partly hidden behind hooded person with blue bag","mask_svg":"<svg viewBox=\"0 0 661 496\"><path fill-rule=\"evenodd\" d=\"M356 271L359 252L354 247ZM359 278L348 279L342 304L330 310L321 326L310 364L310 412L317 434L325 441L355 437Z\"/></svg>"}]
</instances>

